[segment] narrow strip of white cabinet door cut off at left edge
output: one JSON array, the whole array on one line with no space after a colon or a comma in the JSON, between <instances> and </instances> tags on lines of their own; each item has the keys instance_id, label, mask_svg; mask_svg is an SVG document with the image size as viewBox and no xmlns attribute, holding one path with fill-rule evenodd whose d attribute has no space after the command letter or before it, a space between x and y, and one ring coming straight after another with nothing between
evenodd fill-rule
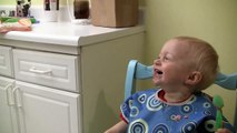
<instances>
[{"instance_id":1,"label":"narrow strip of white cabinet door cut off at left edge","mask_svg":"<svg viewBox=\"0 0 237 133\"><path fill-rule=\"evenodd\" d=\"M13 80L0 76L0 133L18 133L12 89Z\"/></svg>"}]
</instances>

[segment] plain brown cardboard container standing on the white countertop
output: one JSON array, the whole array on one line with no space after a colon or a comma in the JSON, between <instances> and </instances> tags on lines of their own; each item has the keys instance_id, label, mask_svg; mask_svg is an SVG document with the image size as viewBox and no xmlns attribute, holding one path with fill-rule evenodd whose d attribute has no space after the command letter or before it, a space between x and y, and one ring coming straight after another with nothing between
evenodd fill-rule
<instances>
[{"instance_id":1,"label":"plain brown cardboard container standing on the white countertop","mask_svg":"<svg viewBox=\"0 0 237 133\"><path fill-rule=\"evenodd\" d=\"M91 22L115 28L136 25L138 0L91 0Z\"/></svg>"}]
</instances>

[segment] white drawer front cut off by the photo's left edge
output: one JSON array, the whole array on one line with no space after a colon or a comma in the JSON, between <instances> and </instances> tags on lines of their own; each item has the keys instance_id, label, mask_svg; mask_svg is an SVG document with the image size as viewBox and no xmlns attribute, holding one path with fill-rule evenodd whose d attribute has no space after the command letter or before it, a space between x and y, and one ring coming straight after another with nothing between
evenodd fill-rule
<instances>
[{"instance_id":1,"label":"white drawer front cut off by the photo's left edge","mask_svg":"<svg viewBox=\"0 0 237 133\"><path fill-rule=\"evenodd\" d=\"M0 74L13 76L12 49L10 47L0 45Z\"/></svg>"}]
</instances>

